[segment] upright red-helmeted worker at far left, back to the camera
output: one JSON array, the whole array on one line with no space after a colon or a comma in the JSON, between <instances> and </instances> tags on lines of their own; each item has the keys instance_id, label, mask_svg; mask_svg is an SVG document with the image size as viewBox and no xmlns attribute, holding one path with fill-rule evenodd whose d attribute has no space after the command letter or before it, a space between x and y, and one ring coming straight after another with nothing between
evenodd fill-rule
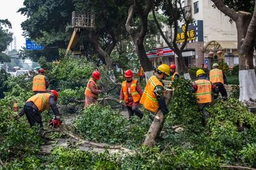
<instances>
[{"instance_id":1,"label":"upright red-helmeted worker at far left, back to the camera","mask_svg":"<svg viewBox=\"0 0 256 170\"><path fill-rule=\"evenodd\" d=\"M38 70L38 75L33 78L33 86L32 91L37 93L45 93L46 89L49 87L49 82L47 77L45 76L44 68L40 68Z\"/></svg>"}]
</instances>

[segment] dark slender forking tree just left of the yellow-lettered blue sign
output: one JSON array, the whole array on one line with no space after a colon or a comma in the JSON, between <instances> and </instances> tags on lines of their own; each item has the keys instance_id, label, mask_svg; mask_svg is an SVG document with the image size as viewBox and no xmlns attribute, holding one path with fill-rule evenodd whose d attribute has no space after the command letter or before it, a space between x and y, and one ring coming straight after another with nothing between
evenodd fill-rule
<instances>
[{"instance_id":1,"label":"dark slender forking tree just left of the yellow-lettered blue sign","mask_svg":"<svg viewBox=\"0 0 256 170\"><path fill-rule=\"evenodd\" d=\"M166 35L164 35L161 25L159 24L157 18L156 18L156 13L155 13L155 8L158 9L160 6L161 10L163 11L163 14L168 17L168 26L171 27L171 29L174 30L174 36L173 40L169 42L168 38ZM180 0L163 0L163 1L156 1L155 6L152 10L154 20L157 24L157 27L160 31L161 36L163 37L164 41L168 45L170 49L175 52L178 56L178 61L179 65L181 66L181 71L184 73L188 73L188 67L185 64L184 58L182 57L182 50L186 47L186 44L188 42L188 25L191 24L193 21L190 16L186 15L187 11L185 10L184 7L182 7L182 1ZM177 33L178 33L178 28L179 28L179 22L182 21L184 22L185 26L185 31L184 31L184 42L181 45L177 44Z\"/></svg>"}]
</instances>

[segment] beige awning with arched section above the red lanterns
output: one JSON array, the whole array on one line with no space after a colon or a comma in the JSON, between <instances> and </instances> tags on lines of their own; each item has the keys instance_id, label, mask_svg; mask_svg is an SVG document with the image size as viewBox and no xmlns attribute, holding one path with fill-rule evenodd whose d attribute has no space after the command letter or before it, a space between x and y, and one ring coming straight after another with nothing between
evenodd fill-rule
<instances>
[{"instance_id":1,"label":"beige awning with arched section above the red lanterns","mask_svg":"<svg viewBox=\"0 0 256 170\"><path fill-rule=\"evenodd\" d=\"M237 49L237 41L211 41L208 42L203 51Z\"/></svg>"}]
</instances>

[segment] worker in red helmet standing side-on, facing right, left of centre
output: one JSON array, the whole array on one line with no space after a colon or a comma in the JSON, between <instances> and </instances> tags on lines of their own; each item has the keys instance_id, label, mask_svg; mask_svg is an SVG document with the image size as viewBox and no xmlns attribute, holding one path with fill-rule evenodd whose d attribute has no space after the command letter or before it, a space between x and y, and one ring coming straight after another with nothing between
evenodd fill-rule
<instances>
[{"instance_id":1,"label":"worker in red helmet standing side-on, facing right, left of centre","mask_svg":"<svg viewBox=\"0 0 256 170\"><path fill-rule=\"evenodd\" d=\"M97 81L100 79L100 72L92 72L92 77L87 83L86 89L84 90L84 109L88 105L96 104L99 94L102 92L97 85Z\"/></svg>"}]
</instances>

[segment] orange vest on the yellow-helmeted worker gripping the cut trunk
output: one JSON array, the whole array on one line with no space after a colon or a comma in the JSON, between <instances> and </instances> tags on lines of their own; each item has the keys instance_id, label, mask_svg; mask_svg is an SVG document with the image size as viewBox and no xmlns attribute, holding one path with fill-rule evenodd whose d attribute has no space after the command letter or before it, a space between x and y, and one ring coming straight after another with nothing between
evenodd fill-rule
<instances>
[{"instance_id":1,"label":"orange vest on the yellow-helmeted worker gripping the cut trunk","mask_svg":"<svg viewBox=\"0 0 256 170\"><path fill-rule=\"evenodd\" d=\"M159 110L156 93L154 93L156 86L163 87L163 83L157 79L156 75L152 75L150 79L148 79L147 85L140 99L140 104L150 112L157 112Z\"/></svg>"}]
</instances>

